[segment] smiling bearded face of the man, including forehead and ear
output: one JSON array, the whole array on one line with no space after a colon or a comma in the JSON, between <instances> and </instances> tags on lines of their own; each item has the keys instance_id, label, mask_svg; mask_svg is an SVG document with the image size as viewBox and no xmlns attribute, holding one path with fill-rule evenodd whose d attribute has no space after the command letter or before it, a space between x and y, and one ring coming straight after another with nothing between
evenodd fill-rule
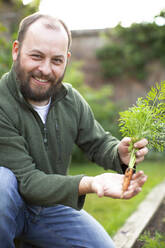
<instances>
[{"instance_id":1,"label":"smiling bearded face of the man, including forehead and ear","mask_svg":"<svg viewBox=\"0 0 165 248\"><path fill-rule=\"evenodd\" d=\"M47 104L61 86L69 56L65 30L48 29L41 21L29 27L21 47L15 41L14 67L20 89L30 103Z\"/></svg>"}]
</instances>

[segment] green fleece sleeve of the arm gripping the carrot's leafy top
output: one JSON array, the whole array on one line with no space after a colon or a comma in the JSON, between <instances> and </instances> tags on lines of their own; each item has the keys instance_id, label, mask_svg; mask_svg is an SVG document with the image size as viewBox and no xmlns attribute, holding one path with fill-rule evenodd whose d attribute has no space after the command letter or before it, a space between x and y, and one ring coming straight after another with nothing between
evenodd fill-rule
<instances>
[{"instance_id":1,"label":"green fleece sleeve of the arm gripping the carrot's leafy top","mask_svg":"<svg viewBox=\"0 0 165 248\"><path fill-rule=\"evenodd\" d=\"M118 155L119 140L106 132L97 122L85 99L75 91L79 106L79 130L76 143L87 154L88 158L104 167L119 173L124 172Z\"/></svg>"}]
</instances>

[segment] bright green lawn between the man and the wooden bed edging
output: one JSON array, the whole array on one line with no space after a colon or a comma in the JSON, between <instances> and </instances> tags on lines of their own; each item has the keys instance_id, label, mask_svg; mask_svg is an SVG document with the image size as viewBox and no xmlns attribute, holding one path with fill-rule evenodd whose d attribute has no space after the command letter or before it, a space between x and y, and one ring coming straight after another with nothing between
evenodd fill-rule
<instances>
[{"instance_id":1,"label":"bright green lawn between the man and the wooden bed edging","mask_svg":"<svg viewBox=\"0 0 165 248\"><path fill-rule=\"evenodd\" d=\"M144 200L151 189L165 179L164 162L143 162L137 166L137 170L143 170L148 180L143 186L140 194L130 200L111 199L107 197L98 198L95 194L86 197L84 209L98 220L107 232L113 236L124 224L126 219L136 210L139 203ZM91 163L73 164L70 169L71 175L86 174L95 176L105 171Z\"/></svg>"}]
</instances>

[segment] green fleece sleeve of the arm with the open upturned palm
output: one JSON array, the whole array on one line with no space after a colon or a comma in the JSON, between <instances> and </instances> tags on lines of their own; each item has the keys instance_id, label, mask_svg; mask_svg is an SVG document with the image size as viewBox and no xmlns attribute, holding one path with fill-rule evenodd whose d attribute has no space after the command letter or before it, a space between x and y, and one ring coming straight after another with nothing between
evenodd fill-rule
<instances>
[{"instance_id":1,"label":"green fleece sleeve of the arm with the open upturned palm","mask_svg":"<svg viewBox=\"0 0 165 248\"><path fill-rule=\"evenodd\" d=\"M85 196L78 196L78 185L83 175L65 176L45 174L36 168L29 154L28 143L13 122L0 109L0 166L16 175L19 192L32 205L63 204L81 209Z\"/></svg>"}]
</instances>

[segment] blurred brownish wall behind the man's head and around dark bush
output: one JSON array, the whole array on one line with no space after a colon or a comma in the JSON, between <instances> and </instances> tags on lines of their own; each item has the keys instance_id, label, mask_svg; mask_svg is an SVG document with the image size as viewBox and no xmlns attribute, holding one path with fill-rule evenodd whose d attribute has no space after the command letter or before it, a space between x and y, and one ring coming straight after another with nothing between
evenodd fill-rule
<instances>
[{"instance_id":1,"label":"blurred brownish wall behind the man's head and around dark bush","mask_svg":"<svg viewBox=\"0 0 165 248\"><path fill-rule=\"evenodd\" d=\"M85 83L98 88L103 84L110 84L114 88L114 101L122 101L123 104L130 105L136 102L137 97L146 94L149 87L155 82L165 80L165 69L159 62L152 62L147 65L148 78L140 82L135 78L109 79L105 80L101 76L100 64L96 58L96 49L101 47L105 40L103 33L107 30L84 30L73 31L72 58L71 61L83 61L83 72L85 73Z\"/></svg>"}]
</instances>

